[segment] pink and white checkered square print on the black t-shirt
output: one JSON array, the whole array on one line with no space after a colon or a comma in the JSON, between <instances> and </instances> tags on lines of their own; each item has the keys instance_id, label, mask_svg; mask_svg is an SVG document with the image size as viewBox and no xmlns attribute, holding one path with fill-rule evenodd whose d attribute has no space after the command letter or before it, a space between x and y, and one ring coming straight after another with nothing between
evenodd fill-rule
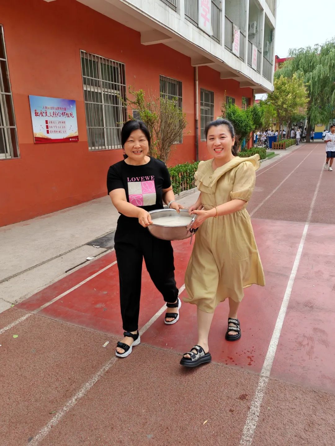
<instances>
[{"instance_id":1,"label":"pink and white checkered square print on the black t-shirt","mask_svg":"<svg viewBox=\"0 0 335 446\"><path fill-rule=\"evenodd\" d=\"M127 178L129 202L134 206L152 206L156 204L154 180L154 176Z\"/></svg>"}]
</instances>

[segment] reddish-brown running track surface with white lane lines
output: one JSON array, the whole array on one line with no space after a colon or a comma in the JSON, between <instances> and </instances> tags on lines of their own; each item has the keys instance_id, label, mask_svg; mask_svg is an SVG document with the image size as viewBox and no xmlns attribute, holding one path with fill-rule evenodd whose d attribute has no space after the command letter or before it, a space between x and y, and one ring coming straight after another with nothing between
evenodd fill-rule
<instances>
[{"instance_id":1,"label":"reddish-brown running track surface with white lane lines","mask_svg":"<svg viewBox=\"0 0 335 446\"><path fill-rule=\"evenodd\" d=\"M218 307L211 364L181 368L196 309L184 304L164 325L146 271L142 343L115 358L113 251L1 313L1 446L332 446L335 211L324 191L335 178L323 163L323 145L306 144L257 172L248 210L267 286L246 290L236 343L224 340L227 305ZM181 296L191 248L174 242Z\"/></svg>"}]
</instances>

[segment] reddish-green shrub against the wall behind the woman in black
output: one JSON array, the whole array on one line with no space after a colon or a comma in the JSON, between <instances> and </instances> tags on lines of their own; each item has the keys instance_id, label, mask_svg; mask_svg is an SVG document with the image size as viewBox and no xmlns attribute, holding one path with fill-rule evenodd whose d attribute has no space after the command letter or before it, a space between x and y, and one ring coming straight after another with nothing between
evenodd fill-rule
<instances>
[{"instance_id":1,"label":"reddish-green shrub against the wall behind the woman in black","mask_svg":"<svg viewBox=\"0 0 335 446\"><path fill-rule=\"evenodd\" d=\"M133 99L127 98L124 103L137 111L140 120L147 125L151 136L149 153L167 164L176 150L176 141L181 140L188 124L177 98L151 93L146 99L143 90L135 91L132 87L129 93ZM129 115L129 119L134 118Z\"/></svg>"}]
</instances>

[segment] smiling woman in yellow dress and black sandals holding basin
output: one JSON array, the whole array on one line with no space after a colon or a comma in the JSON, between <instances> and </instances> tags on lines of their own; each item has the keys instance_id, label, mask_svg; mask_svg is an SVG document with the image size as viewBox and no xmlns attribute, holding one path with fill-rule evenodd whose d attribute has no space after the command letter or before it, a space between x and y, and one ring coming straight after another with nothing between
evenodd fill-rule
<instances>
[{"instance_id":1,"label":"smiling woman in yellow dress and black sandals holding basin","mask_svg":"<svg viewBox=\"0 0 335 446\"><path fill-rule=\"evenodd\" d=\"M201 161L195 173L200 190L189 208L197 214L193 228L199 228L188 263L185 302L197 305L198 343L185 353L180 364L197 367L211 361L208 334L216 306L228 298L227 341L241 337L237 318L243 289L264 286L264 273L246 204L255 187L258 154L240 158L234 127L218 119L205 128L211 159Z\"/></svg>"}]
</instances>

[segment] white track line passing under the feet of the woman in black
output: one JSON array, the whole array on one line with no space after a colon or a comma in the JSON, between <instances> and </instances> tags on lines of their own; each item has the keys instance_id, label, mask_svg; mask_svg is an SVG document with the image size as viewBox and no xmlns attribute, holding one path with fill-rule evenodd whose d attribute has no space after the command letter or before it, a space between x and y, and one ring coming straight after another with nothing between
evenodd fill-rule
<instances>
[{"instance_id":1,"label":"white track line passing under the feet of the woman in black","mask_svg":"<svg viewBox=\"0 0 335 446\"><path fill-rule=\"evenodd\" d=\"M179 295L184 291L185 284L182 285L179 289ZM164 304L160 310L139 330L140 335L142 335L154 322L155 320L166 310L166 305ZM82 388L71 398L71 400L67 401L66 405L56 413L54 417L38 432L38 434L27 444L27 446L36 446L39 442L49 434L50 430L59 423L62 417L73 408L73 406L83 397L86 393L96 384L100 378L105 375L106 372L112 367L112 365L116 362L116 356L113 357L106 363L92 378L83 385Z\"/></svg>"}]
</instances>

